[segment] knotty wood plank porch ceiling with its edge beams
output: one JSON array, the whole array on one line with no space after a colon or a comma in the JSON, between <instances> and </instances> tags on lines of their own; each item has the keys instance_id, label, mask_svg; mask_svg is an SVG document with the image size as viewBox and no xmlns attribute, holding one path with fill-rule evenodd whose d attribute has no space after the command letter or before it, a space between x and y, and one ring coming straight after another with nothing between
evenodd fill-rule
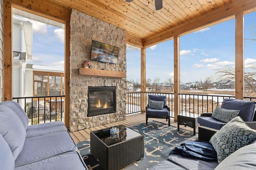
<instances>
[{"instance_id":1,"label":"knotty wood plank porch ceiling with its edge beams","mask_svg":"<svg viewBox=\"0 0 256 170\"><path fill-rule=\"evenodd\" d=\"M6 0L7 1L7 0ZM34 2L8 0L23 6L34 6ZM71 9L78 10L100 20L126 29L127 43L136 47L149 47L199 27L209 25L239 12L256 7L255 0L162 0L163 8L155 9L154 0L46 0L63 16ZM49 7L50 8L50 7ZM191 26L194 25L194 26Z\"/></svg>"}]
</instances>

